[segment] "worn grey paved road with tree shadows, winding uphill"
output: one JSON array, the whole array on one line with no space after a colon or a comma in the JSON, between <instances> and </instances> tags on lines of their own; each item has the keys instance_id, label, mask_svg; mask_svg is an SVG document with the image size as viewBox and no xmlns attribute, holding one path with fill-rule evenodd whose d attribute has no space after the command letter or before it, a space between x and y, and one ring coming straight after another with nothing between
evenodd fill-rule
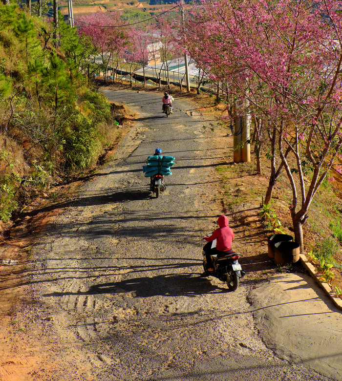
<instances>
[{"instance_id":1,"label":"worn grey paved road with tree shadows, winding uphill","mask_svg":"<svg viewBox=\"0 0 342 381\"><path fill-rule=\"evenodd\" d=\"M247 284L231 293L200 276L200 237L220 212L212 165L225 162L210 121L182 99L167 119L161 96L105 94L138 124L35 249L34 308L53 317L41 328L50 380L328 380L265 346ZM141 171L157 147L176 157L159 199Z\"/></svg>"}]
</instances>

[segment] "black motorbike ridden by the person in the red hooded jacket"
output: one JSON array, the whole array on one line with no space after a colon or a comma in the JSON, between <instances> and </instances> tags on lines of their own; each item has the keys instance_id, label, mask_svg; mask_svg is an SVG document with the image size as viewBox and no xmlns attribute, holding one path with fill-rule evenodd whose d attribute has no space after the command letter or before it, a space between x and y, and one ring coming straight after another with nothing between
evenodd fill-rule
<instances>
[{"instance_id":1,"label":"black motorbike ridden by the person in the red hooded jacket","mask_svg":"<svg viewBox=\"0 0 342 381\"><path fill-rule=\"evenodd\" d=\"M211 235L211 234L210 234ZM208 235L208 236L210 236ZM216 239L212 241L212 248L216 247ZM212 275L215 278L226 282L231 291L235 291L239 285L241 276L246 275L238 262L240 256L232 249L227 252L218 252L211 255L214 271L208 271L207 259L205 256L205 246L203 247L203 269L204 275Z\"/></svg>"}]
</instances>

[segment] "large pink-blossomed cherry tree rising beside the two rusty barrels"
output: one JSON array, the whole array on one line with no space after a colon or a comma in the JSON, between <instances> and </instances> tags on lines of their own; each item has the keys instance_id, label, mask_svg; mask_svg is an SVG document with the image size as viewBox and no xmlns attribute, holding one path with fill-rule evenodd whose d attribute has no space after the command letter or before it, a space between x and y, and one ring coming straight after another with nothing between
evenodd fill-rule
<instances>
[{"instance_id":1,"label":"large pink-blossomed cherry tree rising beside the two rusty barrels","mask_svg":"<svg viewBox=\"0 0 342 381\"><path fill-rule=\"evenodd\" d=\"M230 95L247 100L267 127L273 170L266 198L284 168L302 250L302 224L342 145L341 29L332 0L218 0L195 7L184 30L212 80L229 83Z\"/></svg>"}]
</instances>

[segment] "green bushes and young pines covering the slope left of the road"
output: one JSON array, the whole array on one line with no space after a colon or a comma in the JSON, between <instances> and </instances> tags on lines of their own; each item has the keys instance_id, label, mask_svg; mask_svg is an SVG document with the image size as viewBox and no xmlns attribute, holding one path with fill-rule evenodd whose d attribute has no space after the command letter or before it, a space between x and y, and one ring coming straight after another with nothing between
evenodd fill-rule
<instances>
[{"instance_id":1,"label":"green bushes and young pines covering the slope left of the road","mask_svg":"<svg viewBox=\"0 0 342 381\"><path fill-rule=\"evenodd\" d=\"M89 38L61 22L55 49L52 31L42 19L0 3L0 133L12 142L11 155L24 153L19 164L0 152L4 221L52 176L91 165L106 140L98 130L106 135L112 118L107 99L86 88L82 75L89 55L96 54Z\"/></svg>"}]
</instances>

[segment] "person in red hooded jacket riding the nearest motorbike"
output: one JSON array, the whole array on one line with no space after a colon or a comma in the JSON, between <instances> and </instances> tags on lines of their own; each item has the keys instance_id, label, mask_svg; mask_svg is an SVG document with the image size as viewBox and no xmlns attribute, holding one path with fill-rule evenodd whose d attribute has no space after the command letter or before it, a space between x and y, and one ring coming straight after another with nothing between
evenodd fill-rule
<instances>
[{"instance_id":1,"label":"person in red hooded jacket riding the nearest motorbike","mask_svg":"<svg viewBox=\"0 0 342 381\"><path fill-rule=\"evenodd\" d=\"M204 246L205 256L207 259L207 268L209 272L213 272L213 264L211 255L217 254L219 256L220 252L229 252L232 249L232 242L234 239L233 230L229 227L228 217L221 215L217 219L219 228L216 229L210 236L204 237L208 242ZM212 248L212 242L216 239L216 247Z\"/></svg>"}]
</instances>

